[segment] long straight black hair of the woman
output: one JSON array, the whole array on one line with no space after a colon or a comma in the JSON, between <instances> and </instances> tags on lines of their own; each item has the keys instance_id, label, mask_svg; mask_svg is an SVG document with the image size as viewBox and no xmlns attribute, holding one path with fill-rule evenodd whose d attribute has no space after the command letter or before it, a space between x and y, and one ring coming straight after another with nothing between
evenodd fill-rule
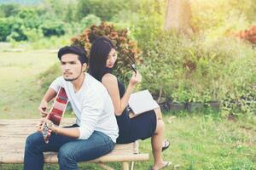
<instances>
[{"instance_id":1,"label":"long straight black hair of the woman","mask_svg":"<svg viewBox=\"0 0 256 170\"><path fill-rule=\"evenodd\" d=\"M102 82L102 77L112 69L106 67L108 54L114 48L113 42L108 37L99 37L91 45L89 57L89 73L98 81Z\"/></svg>"}]
</instances>

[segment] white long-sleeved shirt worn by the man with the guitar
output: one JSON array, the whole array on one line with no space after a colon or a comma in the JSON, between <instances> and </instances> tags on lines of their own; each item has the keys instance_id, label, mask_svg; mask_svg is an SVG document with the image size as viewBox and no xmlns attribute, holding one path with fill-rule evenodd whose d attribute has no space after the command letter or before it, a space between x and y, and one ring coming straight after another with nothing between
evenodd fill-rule
<instances>
[{"instance_id":1,"label":"white long-sleeved shirt worn by the man with the guitar","mask_svg":"<svg viewBox=\"0 0 256 170\"><path fill-rule=\"evenodd\" d=\"M119 127L114 116L112 99L101 82L88 73L84 74L83 85L76 93L73 83L63 77L57 77L49 88L53 88L55 92L58 92L60 87L65 88L67 98L77 117L79 139L88 139L91 133L99 131L108 135L115 143Z\"/></svg>"}]
</instances>

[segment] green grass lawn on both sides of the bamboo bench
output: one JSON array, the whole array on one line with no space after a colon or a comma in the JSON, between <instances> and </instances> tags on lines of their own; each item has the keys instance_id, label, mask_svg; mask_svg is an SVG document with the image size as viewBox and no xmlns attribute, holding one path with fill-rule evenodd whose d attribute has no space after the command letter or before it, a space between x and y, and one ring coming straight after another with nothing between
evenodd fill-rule
<instances>
[{"instance_id":1,"label":"green grass lawn on both sides of the bamboo bench","mask_svg":"<svg viewBox=\"0 0 256 170\"><path fill-rule=\"evenodd\" d=\"M38 74L57 62L56 54L30 51L0 53L0 119L36 118L44 93ZM70 116L70 115L67 115ZM164 114L166 139L171 146L163 154L172 161L169 169L256 169L256 116L220 118L217 113ZM142 152L151 153L150 139L140 142ZM149 169L153 159L138 162L135 169ZM119 163L111 163L120 169ZM80 163L80 169L101 169ZM22 169L19 164L0 164L0 169ZM46 165L45 169L58 169Z\"/></svg>"}]
</instances>

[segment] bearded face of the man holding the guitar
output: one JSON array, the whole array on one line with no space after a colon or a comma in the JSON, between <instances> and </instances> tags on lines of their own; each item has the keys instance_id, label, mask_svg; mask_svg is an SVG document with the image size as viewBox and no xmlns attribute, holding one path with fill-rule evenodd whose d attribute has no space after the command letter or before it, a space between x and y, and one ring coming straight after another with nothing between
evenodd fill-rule
<instances>
[{"instance_id":1,"label":"bearded face of the man holding the guitar","mask_svg":"<svg viewBox=\"0 0 256 170\"><path fill-rule=\"evenodd\" d=\"M77 54L64 54L61 56L62 76L67 81L74 81L79 78L84 70L84 66L79 61Z\"/></svg>"}]
</instances>

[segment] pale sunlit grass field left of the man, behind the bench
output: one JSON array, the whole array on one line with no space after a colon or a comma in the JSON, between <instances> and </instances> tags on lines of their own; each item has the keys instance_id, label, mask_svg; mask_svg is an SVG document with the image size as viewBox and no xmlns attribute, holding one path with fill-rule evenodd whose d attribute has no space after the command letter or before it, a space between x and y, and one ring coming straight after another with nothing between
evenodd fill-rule
<instances>
[{"instance_id":1,"label":"pale sunlit grass field left of the man, behind the bench","mask_svg":"<svg viewBox=\"0 0 256 170\"><path fill-rule=\"evenodd\" d=\"M0 118L37 117L42 98L38 74L57 61L56 54L47 52L0 53Z\"/></svg>"}]
</instances>

